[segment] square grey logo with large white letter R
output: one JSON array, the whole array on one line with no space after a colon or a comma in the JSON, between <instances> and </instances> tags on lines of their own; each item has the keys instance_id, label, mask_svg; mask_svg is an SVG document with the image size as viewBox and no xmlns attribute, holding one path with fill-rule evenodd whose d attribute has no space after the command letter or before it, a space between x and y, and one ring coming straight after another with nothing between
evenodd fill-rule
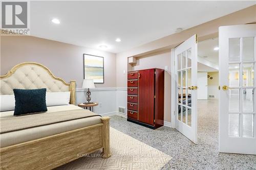
<instances>
[{"instance_id":1,"label":"square grey logo with large white letter R","mask_svg":"<svg viewBox=\"0 0 256 170\"><path fill-rule=\"evenodd\" d=\"M2 2L2 28L28 28L28 3Z\"/></svg>"}]
</instances>

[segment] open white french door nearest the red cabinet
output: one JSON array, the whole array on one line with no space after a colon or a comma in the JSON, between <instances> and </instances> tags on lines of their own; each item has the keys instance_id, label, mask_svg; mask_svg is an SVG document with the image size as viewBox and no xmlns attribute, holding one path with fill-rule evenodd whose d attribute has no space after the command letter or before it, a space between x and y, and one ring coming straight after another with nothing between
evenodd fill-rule
<instances>
[{"instance_id":1,"label":"open white french door nearest the red cabinet","mask_svg":"<svg viewBox=\"0 0 256 170\"><path fill-rule=\"evenodd\" d=\"M197 35L175 48L175 128L197 143Z\"/></svg>"}]
</instances>

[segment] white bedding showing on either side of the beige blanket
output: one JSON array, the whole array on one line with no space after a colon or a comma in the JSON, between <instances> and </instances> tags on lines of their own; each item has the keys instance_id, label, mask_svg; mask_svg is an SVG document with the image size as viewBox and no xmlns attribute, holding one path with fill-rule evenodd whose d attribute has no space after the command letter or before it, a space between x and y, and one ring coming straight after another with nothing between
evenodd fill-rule
<instances>
[{"instance_id":1,"label":"white bedding showing on either side of the beige blanket","mask_svg":"<svg viewBox=\"0 0 256 170\"><path fill-rule=\"evenodd\" d=\"M65 110L75 110L75 109L82 109L75 105L63 105L63 106L51 106L47 107L48 113L51 114L52 112L56 111L65 111ZM0 121L1 118L13 116L14 111L6 111L0 112ZM81 118L76 120L70 120L67 122L56 123L47 126L35 127L25 130L19 130L9 133L3 133L0 135L0 147L7 147L9 145L34 140L46 136L51 136L54 134L67 132L83 127L88 127L92 125L96 125L101 123L100 116L94 117L87 117Z\"/></svg>"}]
</instances>

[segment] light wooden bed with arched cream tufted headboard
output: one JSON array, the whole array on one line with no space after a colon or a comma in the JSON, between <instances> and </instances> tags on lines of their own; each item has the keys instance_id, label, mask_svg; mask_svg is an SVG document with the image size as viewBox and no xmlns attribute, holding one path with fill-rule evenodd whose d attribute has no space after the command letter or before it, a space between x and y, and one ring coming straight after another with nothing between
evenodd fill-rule
<instances>
[{"instance_id":1,"label":"light wooden bed with arched cream tufted headboard","mask_svg":"<svg viewBox=\"0 0 256 170\"><path fill-rule=\"evenodd\" d=\"M110 118L100 117L75 106L75 81L66 83L53 76L44 65L26 62L14 66L6 75L0 77L0 82L1 95L13 94L14 88L46 88L48 92L70 91L69 105L47 107L47 113L23 116L25 120L37 119L38 117L34 117L36 115L54 117L60 113L70 113L70 117L75 116L72 115L74 112L91 115L2 132L6 128L3 127L6 119L12 120L13 111L0 112L1 169L53 169L80 158L81 154L89 154L100 149L102 158L110 157Z\"/></svg>"}]
</instances>

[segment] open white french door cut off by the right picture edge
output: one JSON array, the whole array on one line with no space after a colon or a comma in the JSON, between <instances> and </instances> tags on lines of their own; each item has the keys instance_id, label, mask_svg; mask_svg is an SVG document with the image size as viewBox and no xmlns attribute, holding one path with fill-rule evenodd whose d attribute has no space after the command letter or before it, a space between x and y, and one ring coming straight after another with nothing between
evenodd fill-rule
<instances>
[{"instance_id":1,"label":"open white french door cut off by the right picture edge","mask_svg":"<svg viewBox=\"0 0 256 170\"><path fill-rule=\"evenodd\" d=\"M219 151L256 154L256 25L219 28Z\"/></svg>"}]
</instances>

